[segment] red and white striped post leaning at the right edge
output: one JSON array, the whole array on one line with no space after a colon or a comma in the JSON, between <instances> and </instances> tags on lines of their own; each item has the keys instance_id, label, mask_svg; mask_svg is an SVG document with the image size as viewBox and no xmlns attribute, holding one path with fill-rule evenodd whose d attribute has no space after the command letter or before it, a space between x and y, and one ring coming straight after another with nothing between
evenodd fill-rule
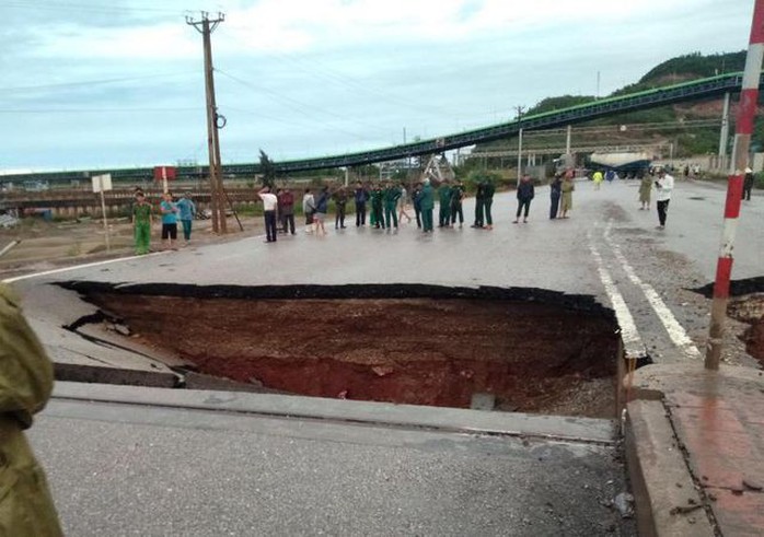
<instances>
[{"instance_id":1,"label":"red and white striped post leaning at the right edge","mask_svg":"<svg viewBox=\"0 0 764 537\"><path fill-rule=\"evenodd\" d=\"M721 233L719 260L716 265L716 281L714 282L714 302L711 303L711 324L708 330L705 367L717 371L721 358L722 338L725 335L725 318L727 317L727 301L729 299L730 276L732 275L732 249L734 232L740 215L740 205L743 192L743 171L748 166L749 147L753 133L753 121L756 117L759 101L759 79L764 58L764 0L755 0L753 7L753 23L751 39L745 56L743 86L740 92L738 121L730 161L730 176L727 182L727 202L725 203L725 227Z\"/></svg>"}]
</instances>

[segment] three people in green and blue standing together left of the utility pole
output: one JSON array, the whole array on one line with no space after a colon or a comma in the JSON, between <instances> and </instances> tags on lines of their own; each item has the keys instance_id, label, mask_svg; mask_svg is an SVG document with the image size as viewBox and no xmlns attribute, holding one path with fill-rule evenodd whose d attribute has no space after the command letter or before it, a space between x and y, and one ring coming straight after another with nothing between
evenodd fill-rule
<instances>
[{"instance_id":1,"label":"three people in green and blue standing together left of the utility pole","mask_svg":"<svg viewBox=\"0 0 764 537\"><path fill-rule=\"evenodd\" d=\"M177 249L178 220L183 225L183 238L185 244L188 245L190 243L194 217L196 215L196 205L192 201L190 195L185 194L178 201L175 201L171 191L164 192L159 205L159 212L162 221L161 236L164 248ZM154 209L140 188L135 190L131 218L136 254L139 256L146 255L151 248L151 224L154 221Z\"/></svg>"}]
</instances>

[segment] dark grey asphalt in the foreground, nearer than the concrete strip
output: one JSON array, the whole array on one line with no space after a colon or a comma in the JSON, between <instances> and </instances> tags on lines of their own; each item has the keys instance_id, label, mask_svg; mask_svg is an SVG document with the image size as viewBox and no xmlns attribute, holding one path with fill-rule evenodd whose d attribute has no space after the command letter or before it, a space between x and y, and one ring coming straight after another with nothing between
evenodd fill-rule
<instances>
[{"instance_id":1,"label":"dark grey asphalt in the foreground, nearer than the concrete strip","mask_svg":"<svg viewBox=\"0 0 764 537\"><path fill-rule=\"evenodd\" d=\"M55 399L66 533L635 535L613 445Z\"/></svg>"}]
</instances>

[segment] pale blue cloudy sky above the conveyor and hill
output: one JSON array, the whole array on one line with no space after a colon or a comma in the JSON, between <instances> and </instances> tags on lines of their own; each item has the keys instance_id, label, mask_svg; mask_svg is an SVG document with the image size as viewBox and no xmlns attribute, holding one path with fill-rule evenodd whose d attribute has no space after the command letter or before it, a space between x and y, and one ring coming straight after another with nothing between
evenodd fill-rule
<instances>
[{"instance_id":1,"label":"pale blue cloudy sky above the conveyor and hill","mask_svg":"<svg viewBox=\"0 0 764 537\"><path fill-rule=\"evenodd\" d=\"M742 50L753 0L2 0L0 173L377 149L606 95L674 56Z\"/></svg>"}]
</instances>

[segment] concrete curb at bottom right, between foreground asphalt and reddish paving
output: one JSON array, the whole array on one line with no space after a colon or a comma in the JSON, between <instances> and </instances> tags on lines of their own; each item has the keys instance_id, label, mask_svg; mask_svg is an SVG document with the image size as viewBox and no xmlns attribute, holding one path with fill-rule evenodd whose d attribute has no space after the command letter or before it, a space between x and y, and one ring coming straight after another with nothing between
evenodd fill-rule
<instances>
[{"instance_id":1,"label":"concrete curb at bottom right, between foreground asphalt and reddish paving","mask_svg":"<svg viewBox=\"0 0 764 537\"><path fill-rule=\"evenodd\" d=\"M663 404L635 400L627 408L626 465L639 535L716 535Z\"/></svg>"}]
</instances>

